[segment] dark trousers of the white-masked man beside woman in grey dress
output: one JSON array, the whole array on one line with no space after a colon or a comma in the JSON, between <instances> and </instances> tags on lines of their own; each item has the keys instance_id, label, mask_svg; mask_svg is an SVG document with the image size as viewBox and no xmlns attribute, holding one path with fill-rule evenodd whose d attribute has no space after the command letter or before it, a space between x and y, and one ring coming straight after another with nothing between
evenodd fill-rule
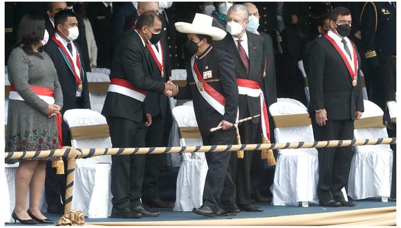
<instances>
[{"instance_id":1,"label":"dark trousers of the white-masked man beside woman in grey dress","mask_svg":"<svg viewBox=\"0 0 401 228\"><path fill-rule=\"evenodd\" d=\"M78 98L75 102L75 107L85 108L84 99ZM62 140L63 146L71 146L70 129L64 120L62 121ZM45 196L48 209L58 210L63 208L64 198L66 196L67 160L63 159L63 161L65 169L64 174L57 174L56 169L52 168L51 162L47 162L46 164Z\"/></svg>"}]
</instances>

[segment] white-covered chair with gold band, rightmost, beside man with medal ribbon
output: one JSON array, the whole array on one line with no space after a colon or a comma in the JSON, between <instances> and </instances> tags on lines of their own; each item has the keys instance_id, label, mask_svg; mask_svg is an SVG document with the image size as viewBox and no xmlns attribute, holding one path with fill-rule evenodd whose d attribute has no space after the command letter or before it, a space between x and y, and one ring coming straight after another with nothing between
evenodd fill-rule
<instances>
[{"instance_id":1,"label":"white-covered chair with gold band, rightmost, beside man with medal ribbon","mask_svg":"<svg viewBox=\"0 0 401 228\"><path fill-rule=\"evenodd\" d=\"M382 109L364 100L364 113L355 121L356 140L386 138ZM353 200L382 197L386 202L391 191L393 151L389 144L355 146L348 178L348 196Z\"/></svg>"}]
</instances>

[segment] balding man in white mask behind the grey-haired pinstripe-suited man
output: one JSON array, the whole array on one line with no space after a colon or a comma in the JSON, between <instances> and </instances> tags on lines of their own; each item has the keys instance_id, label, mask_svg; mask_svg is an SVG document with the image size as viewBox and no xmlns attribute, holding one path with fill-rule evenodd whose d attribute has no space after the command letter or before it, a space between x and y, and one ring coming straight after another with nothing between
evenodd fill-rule
<instances>
[{"instance_id":1,"label":"balding man in white mask behind the grey-haired pinstripe-suited man","mask_svg":"<svg viewBox=\"0 0 401 228\"><path fill-rule=\"evenodd\" d=\"M243 3L246 8L248 8L250 17L249 23L246 27L248 32L260 35L265 41L265 102L269 107L271 104L277 102L277 87L276 87L276 69L274 66L274 53L273 53L273 42L272 37L265 32L259 32L259 10L252 3ZM272 116L269 115L269 122L273 123ZM274 132L274 124L270 124L270 133ZM272 141L274 141L274 136L272 136ZM252 198L256 202L271 202L271 198L263 196L259 191L260 187L263 187L266 191L270 193L269 187L273 183L274 178L274 167L265 171L265 161L261 159L260 156L256 155L252 159L252 170L251 170L251 184L252 184ZM265 174L268 174L268 179L265 179Z\"/></svg>"}]
</instances>

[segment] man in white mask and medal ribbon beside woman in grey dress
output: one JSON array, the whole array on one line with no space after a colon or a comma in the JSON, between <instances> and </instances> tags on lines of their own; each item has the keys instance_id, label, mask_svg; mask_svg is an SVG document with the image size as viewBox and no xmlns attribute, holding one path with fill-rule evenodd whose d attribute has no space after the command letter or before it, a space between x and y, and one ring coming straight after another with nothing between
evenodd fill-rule
<instances>
[{"instance_id":1,"label":"man in white mask and medal ribbon beside woman in grey dress","mask_svg":"<svg viewBox=\"0 0 401 228\"><path fill-rule=\"evenodd\" d=\"M80 47L74 42L79 35L77 17L71 10L61 10L55 15L54 23L56 32L50 37L44 50L53 60L62 86L64 97L62 115L73 108L91 108L84 61L80 55ZM62 143L64 146L71 146L70 131L64 121L62 122ZM66 174L56 175L55 170L51 169L50 162L46 169L48 211L60 213L62 212L60 193L64 199Z\"/></svg>"}]
</instances>

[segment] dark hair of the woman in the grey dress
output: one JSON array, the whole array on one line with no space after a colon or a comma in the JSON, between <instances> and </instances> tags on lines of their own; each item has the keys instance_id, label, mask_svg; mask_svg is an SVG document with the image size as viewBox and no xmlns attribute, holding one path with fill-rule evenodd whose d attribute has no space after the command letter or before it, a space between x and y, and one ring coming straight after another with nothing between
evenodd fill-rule
<instances>
[{"instance_id":1,"label":"dark hair of the woman in the grey dress","mask_svg":"<svg viewBox=\"0 0 401 228\"><path fill-rule=\"evenodd\" d=\"M32 55L32 44L38 44L44 38L44 18L38 15L25 15L19 21L17 42L14 48L21 46L26 55ZM38 48L39 52L42 48Z\"/></svg>"}]
</instances>

